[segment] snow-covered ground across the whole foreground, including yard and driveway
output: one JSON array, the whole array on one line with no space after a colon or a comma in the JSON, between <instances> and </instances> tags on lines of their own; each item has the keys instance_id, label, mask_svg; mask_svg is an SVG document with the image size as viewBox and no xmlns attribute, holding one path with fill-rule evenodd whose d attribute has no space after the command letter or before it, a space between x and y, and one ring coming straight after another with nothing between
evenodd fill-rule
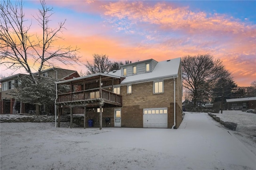
<instances>
[{"instance_id":1,"label":"snow-covered ground across the whole foreground, including yard and driveway","mask_svg":"<svg viewBox=\"0 0 256 170\"><path fill-rule=\"evenodd\" d=\"M245 129L241 125L237 130ZM0 132L1 170L256 169L256 155L236 138L244 132L227 130L207 113L187 112L178 129L0 123Z\"/></svg>"}]
</instances>

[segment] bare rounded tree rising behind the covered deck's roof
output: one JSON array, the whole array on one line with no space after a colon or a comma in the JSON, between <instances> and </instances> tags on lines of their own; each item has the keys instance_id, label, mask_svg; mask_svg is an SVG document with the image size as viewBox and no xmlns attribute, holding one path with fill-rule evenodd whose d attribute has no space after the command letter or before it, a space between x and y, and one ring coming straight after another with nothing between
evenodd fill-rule
<instances>
[{"instance_id":1,"label":"bare rounded tree rising behind the covered deck's roof","mask_svg":"<svg viewBox=\"0 0 256 170\"><path fill-rule=\"evenodd\" d=\"M86 71L86 75L95 74L95 73L104 73L106 71L110 71L112 67L112 62L108 59L108 55L93 55L93 63L89 63L85 65L88 71Z\"/></svg>"}]
</instances>

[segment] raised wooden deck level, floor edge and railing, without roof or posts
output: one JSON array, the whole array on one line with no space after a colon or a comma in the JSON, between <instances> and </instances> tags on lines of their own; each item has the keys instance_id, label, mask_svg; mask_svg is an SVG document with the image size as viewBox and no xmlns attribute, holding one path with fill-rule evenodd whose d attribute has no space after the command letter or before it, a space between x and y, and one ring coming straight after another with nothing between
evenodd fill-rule
<instances>
[{"instance_id":1,"label":"raised wooden deck level, floor edge and railing, without roof or posts","mask_svg":"<svg viewBox=\"0 0 256 170\"><path fill-rule=\"evenodd\" d=\"M105 103L122 106L122 96L111 91L97 88L77 91L72 93L58 94L57 105L69 105L76 103L94 103L104 101Z\"/></svg>"}]
</instances>

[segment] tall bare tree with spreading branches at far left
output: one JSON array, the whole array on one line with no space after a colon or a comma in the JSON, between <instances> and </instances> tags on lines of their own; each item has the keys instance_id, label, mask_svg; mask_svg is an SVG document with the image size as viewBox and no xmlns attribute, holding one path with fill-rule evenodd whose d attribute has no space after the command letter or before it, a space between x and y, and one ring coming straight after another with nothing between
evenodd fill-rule
<instances>
[{"instance_id":1,"label":"tall bare tree with spreading branches at far left","mask_svg":"<svg viewBox=\"0 0 256 170\"><path fill-rule=\"evenodd\" d=\"M60 34L65 29L66 20L60 22L58 28L50 28L53 8L48 8L44 0L40 2L42 8L34 19L41 33L36 35L30 33L32 21L25 18L23 2L8 0L0 3L0 64L13 70L25 69L34 84L38 84L41 70L54 65L55 61L68 65L80 59L76 54L77 47L54 46L57 40L62 39ZM37 75L33 74L35 66L38 66Z\"/></svg>"}]
</instances>

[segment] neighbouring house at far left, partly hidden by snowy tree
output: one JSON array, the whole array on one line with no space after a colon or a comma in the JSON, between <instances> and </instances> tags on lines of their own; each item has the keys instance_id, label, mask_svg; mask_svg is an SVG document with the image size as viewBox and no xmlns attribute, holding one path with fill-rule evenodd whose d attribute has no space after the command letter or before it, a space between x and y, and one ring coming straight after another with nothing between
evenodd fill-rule
<instances>
[{"instance_id":1,"label":"neighbouring house at far left, partly hidden by snowy tree","mask_svg":"<svg viewBox=\"0 0 256 170\"><path fill-rule=\"evenodd\" d=\"M36 73L35 73L36 74ZM15 101L11 95L8 95L10 90L15 90L14 83L17 83L18 77L24 76L26 74L16 74L9 77L5 77L0 79L0 83L2 84L1 93L1 109L0 114L17 114L17 113L30 113L35 110L34 105L30 105L29 103L20 103L19 101ZM60 68L50 68L41 72L41 75L44 77L51 76L54 79L67 80L73 79L76 77L80 77L77 71L68 70L68 69L60 69ZM48 110L54 113L54 105L50 106ZM45 109L45 106L44 106Z\"/></svg>"}]
</instances>

